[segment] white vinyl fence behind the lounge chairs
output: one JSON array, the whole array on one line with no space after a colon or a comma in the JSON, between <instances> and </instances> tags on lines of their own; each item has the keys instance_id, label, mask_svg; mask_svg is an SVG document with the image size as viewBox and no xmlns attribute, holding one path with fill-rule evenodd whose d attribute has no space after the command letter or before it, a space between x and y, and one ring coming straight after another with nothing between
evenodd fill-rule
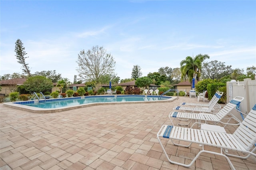
<instances>
[{"instance_id":1,"label":"white vinyl fence behind the lounge chairs","mask_svg":"<svg viewBox=\"0 0 256 170\"><path fill-rule=\"evenodd\" d=\"M240 110L243 113L248 113L256 104L256 80L244 79L244 81L228 81L227 82L227 102L234 97L244 97L240 104ZM232 111L232 113L242 121L240 113Z\"/></svg>"}]
</instances>

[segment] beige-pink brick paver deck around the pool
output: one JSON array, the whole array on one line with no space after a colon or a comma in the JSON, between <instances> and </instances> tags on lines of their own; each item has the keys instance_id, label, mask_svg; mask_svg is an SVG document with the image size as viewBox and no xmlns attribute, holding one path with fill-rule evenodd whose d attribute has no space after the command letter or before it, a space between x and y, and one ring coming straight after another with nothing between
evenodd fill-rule
<instances>
[{"instance_id":1,"label":"beige-pink brick paver deck around the pool","mask_svg":"<svg viewBox=\"0 0 256 170\"><path fill-rule=\"evenodd\" d=\"M197 103L180 97L170 103L97 105L58 113L0 104L0 170L229 170L226 159L213 154L202 154L190 168L168 162L156 133L170 124L170 111L182 102ZM186 163L202 148L166 147L174 160ZM236 169L255 169L254 156L229 158Z\"/></svg>"}]
</instances>

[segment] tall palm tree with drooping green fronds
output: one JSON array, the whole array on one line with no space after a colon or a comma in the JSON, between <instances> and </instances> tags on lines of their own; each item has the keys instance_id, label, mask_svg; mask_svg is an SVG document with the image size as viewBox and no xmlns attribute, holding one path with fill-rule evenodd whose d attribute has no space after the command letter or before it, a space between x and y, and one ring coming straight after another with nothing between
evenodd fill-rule
<instances>
[{"instance_id":1,"label":"tall palm tree with drooping green fronds","mask_svg":"<svg viewBox=\"0 0 256 170\"><path fill-rule=\"evenodd\" d=\"M186 59L180 62L181 79L185 79L188 76L190 82L196 77L197 81L200 81L202 63L205 59L209 59L207 54L198 54L196 57L186 57Z\"/></svg>"}]
</instances>

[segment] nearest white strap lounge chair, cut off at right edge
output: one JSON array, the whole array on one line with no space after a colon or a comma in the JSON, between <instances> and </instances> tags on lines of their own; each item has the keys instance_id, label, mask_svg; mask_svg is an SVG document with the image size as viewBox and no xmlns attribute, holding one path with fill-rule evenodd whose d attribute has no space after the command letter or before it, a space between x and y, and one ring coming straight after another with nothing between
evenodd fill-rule
<instances>
[{"instance_id":1,"label":"nearest white strap lounge chair, cut off at right edge","mask_svg":"<svg viewBox=\"0 0 256 170\"><path fill-rule=\"evenodd\" d=\"M196 154L194 159L190 162L190 164L184 164L180 162L176 162L171 160L172 156L168 156L161 138L168 138L175 146L183 146L189 147L192 143L202 145L202 150ZM202 153L209 153L220 155L226 158L230 168L235 170L232 162L228 158L228 156L247 159L250 155L256 157L254 153L256 150L256 105L252 108L252 110L248 113L244 121L240 124L240 126L235 130L233 134L228 134L225 132L214 132L213 130L202 130L202 129L194 129L194 128L185 128L185 127L175 127L169 125L162 125L160 130L157 133L157 139L164 151L166 158L172 164L177 164L184 167L190 167L196 159ZM174 140L189 142L188 145L174 143ZM167 142L169 144L169 142ZM204 146L213 146L220 149L220 152L214 152L213 150L205 150ZM215 150L215 149L214 149ZM225 150L232 150L238 152L238 154L247 154L247 156L239 156L235 154L227 153ZM175 157L177 155L174 155ZM176 158L176 160L178 160Z\"/></svg>"}]
</instances>

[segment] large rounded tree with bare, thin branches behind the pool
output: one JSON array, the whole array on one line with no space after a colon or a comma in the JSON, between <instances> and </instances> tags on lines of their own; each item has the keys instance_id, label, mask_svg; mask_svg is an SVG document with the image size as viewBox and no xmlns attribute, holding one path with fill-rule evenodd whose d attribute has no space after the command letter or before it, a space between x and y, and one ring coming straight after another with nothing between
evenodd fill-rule
<instances>
[{"instance_id":1,"label":"large rounded tree with bare, thin branches behind the pool","mask_svg":"<svg viewBox=\"0 0 256 170\"><path fill-rule=\"evenodd\" d=\"M115 75L116 61L103 47L94 46L87 52L80 51L76 63L78 63L76 71L83 81L95 81L98 84L102 83L100 80L104 75Z\"/></svg>"}]
</instances>

